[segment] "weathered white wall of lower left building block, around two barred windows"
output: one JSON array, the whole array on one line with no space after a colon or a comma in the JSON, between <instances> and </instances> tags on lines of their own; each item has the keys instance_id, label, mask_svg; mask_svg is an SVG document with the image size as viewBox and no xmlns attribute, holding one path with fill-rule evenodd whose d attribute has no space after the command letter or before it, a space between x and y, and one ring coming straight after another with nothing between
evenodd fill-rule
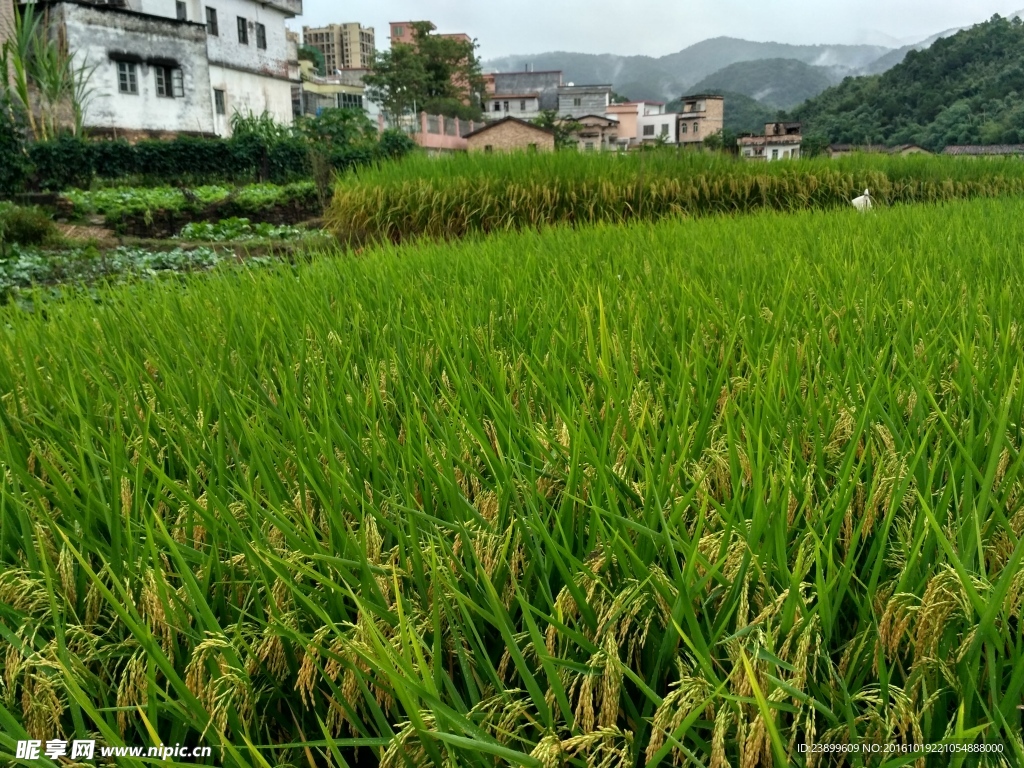
<instances>
[{"instance_id":1,"label":"weathered white wall of lower left building block, around two barred windows","mask_svg":"<svg viewBox=\"0 0 1024 768\"><path fill-rule=\"evenodd\" d=\"M106 131L212 133L213 94L206 59L206 30L194 24L111 8L61 3L51 13L62 23L78 61L94 67L85 125ZM138 93L121 93L116 59L135 63ZM157 95L157 66L180 69L184 95Z\"/></svg>"}]
</instances>

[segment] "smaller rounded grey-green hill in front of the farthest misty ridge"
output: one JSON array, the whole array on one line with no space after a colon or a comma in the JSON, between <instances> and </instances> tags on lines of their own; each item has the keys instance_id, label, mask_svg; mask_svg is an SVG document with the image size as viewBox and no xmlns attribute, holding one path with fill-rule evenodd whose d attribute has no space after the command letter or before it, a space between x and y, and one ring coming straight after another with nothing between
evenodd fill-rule
<instances>
[{"instance_id":1,"label":"smaller rounded grey-green hill in front of the farthest misty ridge","mask_svg":"<svg viewBox=\"0 0 1024 768\"><path fill-rule=\"evenodd\" d=\"M766 106L788 110L842 82L849 70L815 67L795 58L739 61L709 75L691 87L695 93L731 91Z\"/></svg>"}]
</instances>

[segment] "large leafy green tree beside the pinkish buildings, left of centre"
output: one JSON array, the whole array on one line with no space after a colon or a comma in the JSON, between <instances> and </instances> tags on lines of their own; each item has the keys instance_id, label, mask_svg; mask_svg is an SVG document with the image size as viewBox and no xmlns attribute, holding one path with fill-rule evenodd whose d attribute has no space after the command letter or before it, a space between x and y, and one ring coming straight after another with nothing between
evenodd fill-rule
<instances>
[{"instance_id":1,"label":"large leafy green tree beside the pinkish buildings, left of centre","mask_svg":"<svg viewBox=\"0 0 1024 768\"><path fill-rule=\"evenodd\" d=\"M367 95L392 118L427 112L480 119L483 76L476 43L434 35L432 29L428 22L415 24L415 43L396 43L377 55L373 72L364 78Z\"/></svg>"}]
</instances>

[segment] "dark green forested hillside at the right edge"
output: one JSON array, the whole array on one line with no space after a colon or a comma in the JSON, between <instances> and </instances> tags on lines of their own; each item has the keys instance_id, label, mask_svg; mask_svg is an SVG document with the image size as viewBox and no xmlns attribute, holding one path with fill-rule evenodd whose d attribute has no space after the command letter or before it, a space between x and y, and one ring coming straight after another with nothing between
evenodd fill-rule
<instances>
[{"instance_id":1,"label":"dark green forested hillside at the right edge","mask_svg":"<svg viewBox=\"0 0 1024 768\"><path fill-rule=\"evenodd\" d=\"M805 134L843 143L1024 143L1024 24L990 20L883 75L847 78L793 111Z\"/></svg>"}]
</instances>

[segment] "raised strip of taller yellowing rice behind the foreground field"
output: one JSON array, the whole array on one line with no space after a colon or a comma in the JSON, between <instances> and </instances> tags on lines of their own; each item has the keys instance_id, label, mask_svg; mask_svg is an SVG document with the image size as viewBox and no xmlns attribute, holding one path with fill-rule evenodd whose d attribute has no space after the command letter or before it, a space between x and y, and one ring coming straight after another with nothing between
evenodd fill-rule
<instances>
[{"instance_id":1,"label":"raised strip of taller yellowing rice behind the foreground field","mask_svg":"<svg viewBox=\"0 0 1024 768\"><path fill-rule=\"evenodd\" d=\"M743 163L675 151L416 157L360 171L335 189L343 241L455 239L548 224L623 223L760 209L882 205L1024 193L1018 161L858 157Z\"/></svg>"}]
</instances>

